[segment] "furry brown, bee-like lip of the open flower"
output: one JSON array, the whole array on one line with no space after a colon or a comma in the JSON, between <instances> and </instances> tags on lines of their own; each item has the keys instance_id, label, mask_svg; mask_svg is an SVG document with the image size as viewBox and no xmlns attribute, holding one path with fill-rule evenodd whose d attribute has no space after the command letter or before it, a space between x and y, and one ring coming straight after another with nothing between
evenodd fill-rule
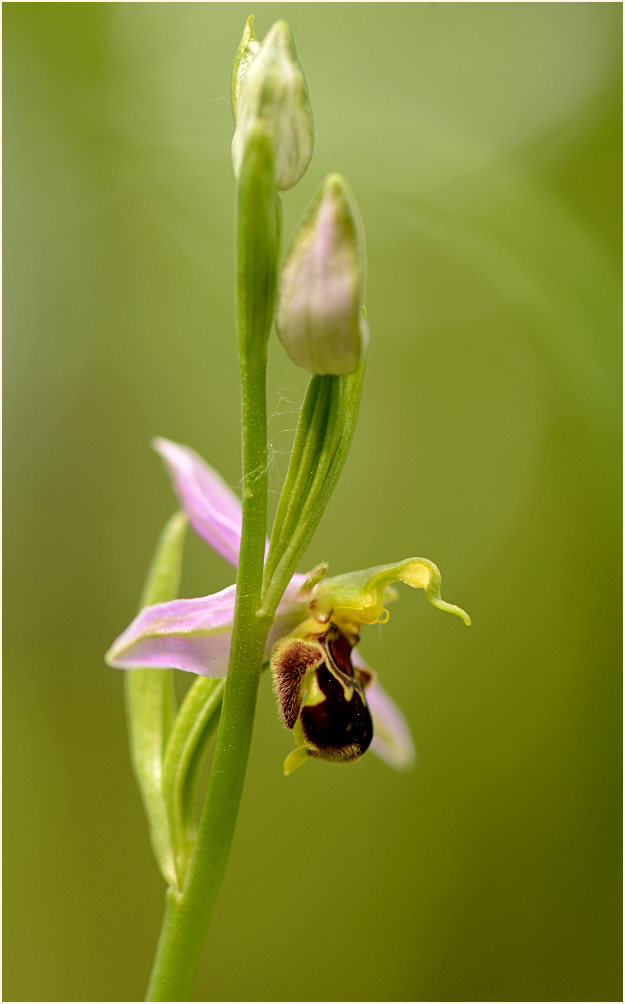
<instances>
[{"instance_id":1,"label":"furry brown, bee-like lip of the open flower","mask_svg":"<svg viewBox=\"0 0 625 1004\"><path fill-rule=\"evenodd\" d=\"M271 667L278 705L299 747L294 760L287 759L287 772L307 756L349 761L368 749L373 723L364 692L371 674L353 666L351 651L332 623L321 636L284 639L275 647Z\"/></svg>"}]
</instances>

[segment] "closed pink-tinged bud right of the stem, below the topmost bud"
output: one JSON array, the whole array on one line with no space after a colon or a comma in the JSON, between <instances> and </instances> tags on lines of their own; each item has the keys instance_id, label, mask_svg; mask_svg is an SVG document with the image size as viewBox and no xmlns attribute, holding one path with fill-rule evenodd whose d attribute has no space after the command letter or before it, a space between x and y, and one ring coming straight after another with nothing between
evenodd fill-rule
<instances>
[{"instance_id":1,"label":"closed pink-tinged bud right of the stem, below the topmost bud","mask_svg":"<svg viewBox=\"0 0 625 1004\"><path fill-rule=\"evenodd\" d=\"M284 265L276 328L289 358L312 373L354 372L369 342L360 211L345 179L328 175Z\"/></svg>"}]
</instances>

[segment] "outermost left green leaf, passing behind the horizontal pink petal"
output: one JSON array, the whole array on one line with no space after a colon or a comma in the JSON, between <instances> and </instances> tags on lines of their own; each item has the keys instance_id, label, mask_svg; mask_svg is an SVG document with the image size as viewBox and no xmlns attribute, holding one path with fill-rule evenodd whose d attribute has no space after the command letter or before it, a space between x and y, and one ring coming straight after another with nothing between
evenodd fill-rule
<instances>
[{"instance_id":1,"label":"outermost left green leaf, passing behind the horizontal pink petal","mask_svg":"<svg viewBox=\"0 0 625 1004\"><path fill-rule=\"evenodd\" d=\"M147 573L140 608L178 595L187 517L179 512L167 523ZM178 884L176 854L162 777L165 748L176 717L172 670L127 670L125 708L130 756L149 824L149 838L165 880Z\"/></svg>"}]
</instances>

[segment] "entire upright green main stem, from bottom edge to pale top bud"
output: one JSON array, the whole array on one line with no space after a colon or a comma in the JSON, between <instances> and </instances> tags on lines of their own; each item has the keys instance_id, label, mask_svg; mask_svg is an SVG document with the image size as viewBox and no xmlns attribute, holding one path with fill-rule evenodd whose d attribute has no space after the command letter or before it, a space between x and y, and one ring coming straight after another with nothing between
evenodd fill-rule
<instances>
[{"instance_id":1,"label":"entire upright green main stem, from bottom edge to pale top bud","mask_svg":"<svg viewBox=\"0 0 625 1004\"><path fill-rule=\"evenodd\" d=\"M261 614L267 533L267 340L280 247L273 148L250 136L237 189L237 333L241 367L243 526L230 664L198 839L167 909L146 1000L189 1000L226 873L252 743L258 684L273 612Z\"/></svg>"}]
</instances>

